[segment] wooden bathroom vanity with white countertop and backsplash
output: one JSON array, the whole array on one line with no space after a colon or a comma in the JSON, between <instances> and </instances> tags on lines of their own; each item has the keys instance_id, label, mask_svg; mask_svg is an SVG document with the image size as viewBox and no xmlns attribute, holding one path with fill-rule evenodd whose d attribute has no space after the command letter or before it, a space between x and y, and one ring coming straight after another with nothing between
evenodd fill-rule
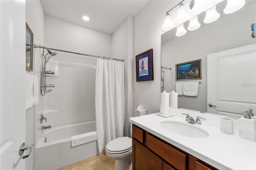
<instances>
[{"instance_id":1,"label":"wooden bathroom vanity with white countertop and backsplash","mask_svg":"<svg viewBox=\"0 0 256 170\"><path fill-rule=\"evenodd\" d=\"M212 126L213 122L220 123L219 116L176 108L172 110L175 116L169 118L156 114L130 118L133 124L133 170L256 169L256 142L240 138L238 129L233 135L224 134L220 132L220 125ZM189 124L181 113L207 120L202 121L202 125ZM176 123L176 128L164 128L163 123ZM238 120L234 120L235 128L238 128L237 123ZM175 130L184 130L181 125L185 128L188 125L188 133L186 130Z\"/></svg>"}]
</instances>

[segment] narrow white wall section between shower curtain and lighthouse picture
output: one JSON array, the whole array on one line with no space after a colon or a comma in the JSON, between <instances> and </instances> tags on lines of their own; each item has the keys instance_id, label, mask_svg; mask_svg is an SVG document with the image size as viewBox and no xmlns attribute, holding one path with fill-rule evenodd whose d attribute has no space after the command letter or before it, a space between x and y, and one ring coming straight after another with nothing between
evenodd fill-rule
<instances>
[{"instance_id":1,"label":"narrow white wall section between shower curtain and lighthouse picture","mask_svg":"<svg viewBox=\"0 0 256 170\"><path fill-rule=\"evenodd\" d=\"M112 58L124 59L125 109L124 136L130 136L129 117L132 116L132 59L133 59L133 23L132 17L124 22L112 34Z\"/></svg>"}]
</instances>

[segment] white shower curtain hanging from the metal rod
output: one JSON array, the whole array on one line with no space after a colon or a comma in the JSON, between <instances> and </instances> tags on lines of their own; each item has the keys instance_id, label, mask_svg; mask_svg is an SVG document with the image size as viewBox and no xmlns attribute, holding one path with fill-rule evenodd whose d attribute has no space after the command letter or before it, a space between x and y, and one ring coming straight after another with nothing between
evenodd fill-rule
<instances>
[{"instance_id":1,"label":"white shower curtain hanging from the metal rod","mask_svg":"<svg viewBox=\"0 0 256 170\"><path fill-rule=\"evenodd\" d=\"M98 58L95 111L101 152L108 142L124 136L124 62Z\"/></svg>"}]
</instances>

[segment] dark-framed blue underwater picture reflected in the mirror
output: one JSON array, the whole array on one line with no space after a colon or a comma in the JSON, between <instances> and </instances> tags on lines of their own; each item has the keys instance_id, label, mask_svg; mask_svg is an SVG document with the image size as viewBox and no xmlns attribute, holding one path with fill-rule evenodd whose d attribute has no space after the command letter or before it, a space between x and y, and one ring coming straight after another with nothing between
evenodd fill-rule
<instances>
[{"instance_id":1,"label":"dark-framed blue underwater picture reflected in the mirror","mask_svg":"<svg viewBox=\"0 0 256 170\"><path fill-rule=\"evenodd\" d=\"M176 80L202 79L201 60L176 64Z\"/></svg>"}]
</instances>

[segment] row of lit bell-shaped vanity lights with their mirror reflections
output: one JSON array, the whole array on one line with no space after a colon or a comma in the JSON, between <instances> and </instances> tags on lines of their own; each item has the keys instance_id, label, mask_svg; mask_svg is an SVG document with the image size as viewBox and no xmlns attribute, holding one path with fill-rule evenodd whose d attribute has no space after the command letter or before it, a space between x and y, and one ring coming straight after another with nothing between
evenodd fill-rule
<instances>
[{"instance_id":1,"label":"row of lit bell-shaped vanity lights with their mirror reflections","mask_svg":"<svg viewBox=\"0 0 256 170\"><path fill-rule=\"evenodd\" d=\"M166 12L164 18L163 30L168 31L177 27L176 36L183 36L186 34L183 23L190 20L188 30L193 31L198 29L201 24L198 22L198 14L206 12L204 23L208 24L220 18L220 14L216 11L216 4L224 0L181 0L176 6ZM188 3L187 3L188 2ZM245 0L227 0L224 14L230 14L241 9ZM179 6L174 12L170 12ZM172 17L171 17L172 16ZM172 20L173 18L173 20Z\"/></svg>"}]
</instances>

